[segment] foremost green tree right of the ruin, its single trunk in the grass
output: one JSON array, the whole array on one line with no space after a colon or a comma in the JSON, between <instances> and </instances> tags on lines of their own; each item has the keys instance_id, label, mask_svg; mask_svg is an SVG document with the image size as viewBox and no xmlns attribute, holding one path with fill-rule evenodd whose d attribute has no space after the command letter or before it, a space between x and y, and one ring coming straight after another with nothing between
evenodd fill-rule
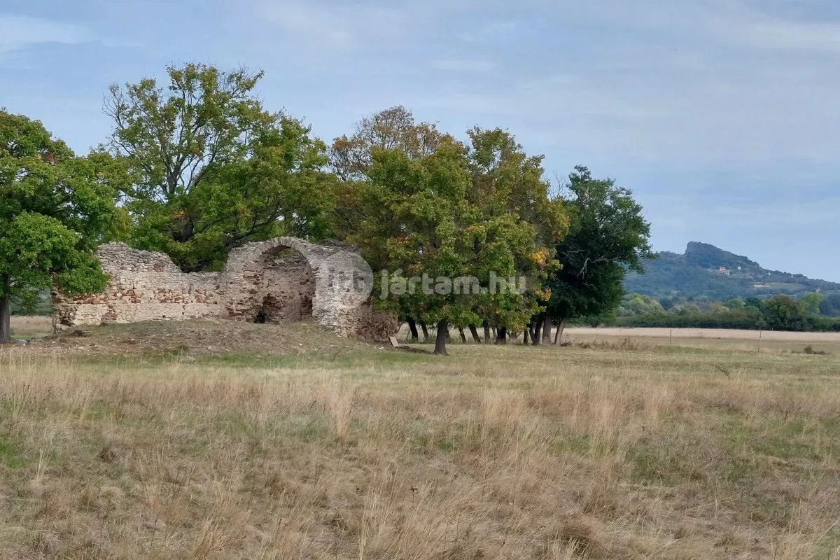
<instances>
[{"instance_id":1,"label":"foremost green tree right of the ruin, its single trunk in the grass","mask_svg":"<svg viewBox=\"0 0 840 560\"><path fill-rule=\"evenodd\" d=\"M417 158L400 149L375 148L368 178L359 182L363 217L349 241L360 245L374 270L391 271L389 281L396 289L385 291L385 306L400 311L410 301L423 321L437 324L438 354L446 353L450 325L475 324L480 318L473 287L454 289L456 278L475 277L488 292L483 294L488 305L508 325L523 327L531 313L517 291L489 292L496 287L490 284L491 272L515 275L512 248L533 246L533 229L509 215L482 212L468 200L471 184L467 149L451 139ZM434 283L425 287L433 291L400 281L424 274ZM381 282L381 275L376 280ZM375 293L382 293L381 285Z\"/></svg>"}]
</instances>

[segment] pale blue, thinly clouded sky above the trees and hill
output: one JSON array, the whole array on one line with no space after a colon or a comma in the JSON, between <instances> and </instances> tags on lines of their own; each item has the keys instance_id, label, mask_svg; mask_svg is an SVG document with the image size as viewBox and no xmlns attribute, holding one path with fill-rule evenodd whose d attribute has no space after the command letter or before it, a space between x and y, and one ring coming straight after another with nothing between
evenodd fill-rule
<instances>
[{"instance_id":1,"label":"pale blue, thinly clouded sky above the trees and hill","mask_svg":"<svg viewBox=\"0 0 840 560\"><path fill-rule=\"evenodd\" d=\"M836 0L0 3L0 107L76 151L109 84L188 61L265 70L266 107L326 140L396 104L508 128L551 177L631 188L655 249L840 281Z\"/></svg>"}]
</instances>

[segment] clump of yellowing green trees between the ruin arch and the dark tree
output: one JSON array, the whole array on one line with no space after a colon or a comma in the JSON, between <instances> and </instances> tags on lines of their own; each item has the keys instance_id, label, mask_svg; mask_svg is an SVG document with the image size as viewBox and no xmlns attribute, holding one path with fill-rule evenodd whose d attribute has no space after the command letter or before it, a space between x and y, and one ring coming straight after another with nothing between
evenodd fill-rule
<instances>
[{"instance_id":1,"label":"clump of yellowing green trees between the ruin arch and the dark tree","mask_svg":"<svg viewBox=\"0 0 840 560\"><path fill-rule=\"evenodd\" d=\"M341 185L339 237L358 244L375 268L470 277L484 289L389 296L403 317L438 325L438 353L445 352L444 325L474 333L480 323L522 328L537 302L518 291L491 293L491 273L544 279L552 243L568 227L562 202L549 196L541 157L528 157L499 128L474 128L468 137L462 144L391 107L362 119L331 150Z\"/></svg>"}]
</instances>

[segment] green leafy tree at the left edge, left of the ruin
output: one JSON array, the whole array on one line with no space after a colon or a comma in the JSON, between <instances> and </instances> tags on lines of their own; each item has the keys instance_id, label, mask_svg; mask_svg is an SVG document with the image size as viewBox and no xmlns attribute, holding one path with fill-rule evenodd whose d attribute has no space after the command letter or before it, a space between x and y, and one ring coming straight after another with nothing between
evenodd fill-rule
<instances>
[{"instance_id":1,"label":"green leafy tree at the left edge, left of the ruin","mask_svg":"<svg viewBox=\"0 0 840 560\"><path fill-rule=\"evenodd\" d=\"M76 157L39 121L0 111L0 343L12 301L38 291L102 290L92 249L113 234L113 186L92 158Z\"/></svg>"}]
</instances>

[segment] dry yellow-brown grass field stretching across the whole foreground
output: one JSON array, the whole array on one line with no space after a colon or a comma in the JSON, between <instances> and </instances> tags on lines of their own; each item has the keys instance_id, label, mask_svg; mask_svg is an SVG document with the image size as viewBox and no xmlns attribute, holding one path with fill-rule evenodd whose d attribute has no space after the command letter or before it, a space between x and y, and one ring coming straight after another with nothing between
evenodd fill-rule
<instances>
[{"instance_id":1,"label":"dry yellow-brown grass field stretching across the whole foreground","mask_svg":"<svg viewBox=\"0 0 840 560\"><path fill-rule=\"evenodd\" d=\"M207 325L0 349L0 557L840 558L831 343L148 343Z\"/></svg>"}]
</instances>

